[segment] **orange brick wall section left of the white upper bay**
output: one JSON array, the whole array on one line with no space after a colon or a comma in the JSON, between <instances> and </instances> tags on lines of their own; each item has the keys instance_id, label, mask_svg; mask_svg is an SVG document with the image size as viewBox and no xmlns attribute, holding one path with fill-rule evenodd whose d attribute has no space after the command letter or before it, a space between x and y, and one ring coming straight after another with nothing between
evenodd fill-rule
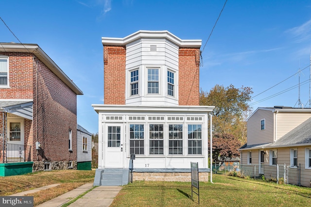
<instances>
[{"instance_id":1,"label":"orange brick wall section left of the white upper bay","mask_svg":"<svg viewBox=\"0 0 311 207\"><path fill-rule=\"evenodd\" d=\"M104 45L104 104L125 104L125 46Z\"/></svg>"}]
</instances>

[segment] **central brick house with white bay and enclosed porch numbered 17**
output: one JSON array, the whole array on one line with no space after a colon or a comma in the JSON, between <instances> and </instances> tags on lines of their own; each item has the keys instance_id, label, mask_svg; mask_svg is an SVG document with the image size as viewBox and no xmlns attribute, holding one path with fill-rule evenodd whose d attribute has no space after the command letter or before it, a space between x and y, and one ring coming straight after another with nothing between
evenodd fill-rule
<instances>
[{"instance_id":1,"label":"central brick house with white bay and enclosed porch numbered 17","mask_svg":"<svg viewBox=\"0 0 311 207\"><path fill-rule=\"evenodd\" d=\"M99 114L94 185L126 184L133 154L135 179L178 180L175 173L190 181L190 162L207 172L207 122L214 107L199 106L201 40L138 31L103 37L102 43L104 104L92 105ZM105 174L112 169L123 169L119 183Z\"/></svg>"}]
</instances>

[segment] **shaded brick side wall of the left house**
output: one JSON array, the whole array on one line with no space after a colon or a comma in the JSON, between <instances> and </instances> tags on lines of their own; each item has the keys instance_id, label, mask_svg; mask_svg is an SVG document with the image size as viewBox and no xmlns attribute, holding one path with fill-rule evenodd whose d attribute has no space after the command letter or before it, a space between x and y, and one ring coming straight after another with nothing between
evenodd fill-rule
<instances>
[{"instance_id":1,"label":"shaded brick side wall of the left house","mask_svg":"<svg viewBox=\"0 0 311 207\"><path fill-rule=\"evenodd\" d=\"M37 59L35 59L37 62ZM36 69L38 78L36 81ZM77 95L66 86L42 62L34 63L34 121L38 117L38 141L43 145L34 149L34 161L77 160ZM36 83L38 83L38 103L36 101ZM72 152L69 152L69 129L72 131ZM33 144L35 146L36 134Z\"/></svg>"}]
</instances>

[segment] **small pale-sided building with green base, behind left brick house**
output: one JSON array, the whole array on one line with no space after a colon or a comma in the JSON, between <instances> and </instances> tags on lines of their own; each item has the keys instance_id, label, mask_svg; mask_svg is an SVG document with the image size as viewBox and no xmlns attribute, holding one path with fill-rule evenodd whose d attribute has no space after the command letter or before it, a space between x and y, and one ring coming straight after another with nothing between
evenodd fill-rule
<instances>
[{"instance_id":1,"label":"small pale-sided building with green base, behind left brick house","mask_svg":"<svg viewBox=\"0 0 311 207\"><path fill-rule=\"evenodd\" d=\"M92 134L77 125L77 170L91 170Z\"/></svg>"}]
</instances>

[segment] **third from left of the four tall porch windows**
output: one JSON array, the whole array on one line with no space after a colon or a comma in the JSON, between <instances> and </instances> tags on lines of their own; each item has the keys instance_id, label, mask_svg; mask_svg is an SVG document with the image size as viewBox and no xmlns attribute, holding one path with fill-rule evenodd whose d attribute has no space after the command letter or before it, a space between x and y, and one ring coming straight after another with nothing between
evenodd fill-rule
<instances>
[{"instance_id":1,"label":"third from left of the four tall porch windows","mask_svg":"<svg viewBox=\"0 0 311 207\"><path fill-rule=\"evenodd\" d=\"M169 124L169 154L183 154L183 125Z\"/></svg>"}]
</instances>

